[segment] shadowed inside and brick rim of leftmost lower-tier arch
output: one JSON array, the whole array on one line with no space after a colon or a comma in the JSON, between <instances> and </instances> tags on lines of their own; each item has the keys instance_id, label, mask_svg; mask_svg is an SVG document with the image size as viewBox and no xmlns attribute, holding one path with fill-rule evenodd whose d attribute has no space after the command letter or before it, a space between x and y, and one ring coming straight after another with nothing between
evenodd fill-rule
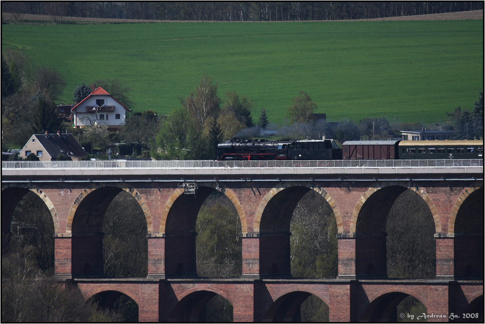
<instances>
[{"instance_id":1,"label":"shadowed inside and brick rim of leftmost lower-tier arch","mask_svg":"<svg viewBox=\"0 0 485 324\"><path fill-rule=\"evenodd\" d=\"M120 302L120 298L122 301ZM139 303L129 291L125 290L98 290L85 296L88 302L96 303L101 309L112 309L123 318L123 322L138 322ZM119 305L117 305L119 304ZM116 307L118 306L118 307ZM117 308L117 309L113 309Z\"/></svg>"}]
</instances>

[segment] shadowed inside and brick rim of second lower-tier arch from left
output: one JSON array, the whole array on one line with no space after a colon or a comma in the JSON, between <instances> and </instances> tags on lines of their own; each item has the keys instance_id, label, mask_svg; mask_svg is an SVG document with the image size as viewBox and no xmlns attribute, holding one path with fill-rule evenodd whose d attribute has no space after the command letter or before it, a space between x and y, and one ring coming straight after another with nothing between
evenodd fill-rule
<instances>
[{"instance_id":1,"label":"shadowed inside and brick rim of second lower-tier arch from left","mask_svg":"<svg viewBox=\"0 0 485 324\"><path fill-rule=\"evenodd\" d=\"M231 303L228 296L218 290L189 290L182 295L182 298L170 312L168 322L206 322L206 307L209 301L215 296L221 296L228 303ZM234 315L232 314L232 318Z\"/></svg>"}]
</instances>

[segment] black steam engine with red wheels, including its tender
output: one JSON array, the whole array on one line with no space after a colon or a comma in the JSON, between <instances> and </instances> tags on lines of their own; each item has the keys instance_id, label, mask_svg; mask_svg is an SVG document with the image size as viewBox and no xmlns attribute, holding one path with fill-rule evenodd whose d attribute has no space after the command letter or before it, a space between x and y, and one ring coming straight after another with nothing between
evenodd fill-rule
<instances>
[{"instance_id":1,"label":"black steam engine with red wheels, including its tender","mask_svg":"<svg viewBox=\"0 0 485 324\"><path fill-rule=\"evenodd\" d=\"M333 139L247 139L233 138L217 145L224 152L219 161L242 160L338 160L342 151Z\"/></svg>"}]
</instances>

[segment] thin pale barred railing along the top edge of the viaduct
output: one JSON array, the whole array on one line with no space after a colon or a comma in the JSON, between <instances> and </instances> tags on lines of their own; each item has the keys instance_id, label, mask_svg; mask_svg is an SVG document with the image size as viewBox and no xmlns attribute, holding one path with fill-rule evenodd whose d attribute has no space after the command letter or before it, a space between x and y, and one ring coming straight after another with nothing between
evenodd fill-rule
<instances>
[{"instance_id":1,"label":"thin pale barred railing along the top edge of the viaduct","mask_svg":"<svg viewBox=\"0 0 485 324\"><path fill-rule=\"evenodd\" d=\"M473 160L308 160L308 161L2 161L2 169L200 169L200 168L426 168L483 167Z\"/></svg>"}]
</instances>

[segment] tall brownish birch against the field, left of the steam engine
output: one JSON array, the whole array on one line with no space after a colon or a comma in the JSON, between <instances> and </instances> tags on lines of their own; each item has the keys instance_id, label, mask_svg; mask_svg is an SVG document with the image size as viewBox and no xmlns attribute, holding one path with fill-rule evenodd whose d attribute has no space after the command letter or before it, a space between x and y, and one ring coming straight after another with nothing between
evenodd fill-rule
<instances>
[{"instance_id":1,"label":"tall brownish birch against the field, left of the steam engine","mask_svg":"<svg viewBox=\"0 0 485 324\"><path fill-rule=\"evenodd\" d=\"M212 84L212 78L203 75L200 84L182 101L183 106L194 121L205 128L209 117L217 119L221 110L221 100L217 97L217 84Z\"/></svg>"}]
</instances>

